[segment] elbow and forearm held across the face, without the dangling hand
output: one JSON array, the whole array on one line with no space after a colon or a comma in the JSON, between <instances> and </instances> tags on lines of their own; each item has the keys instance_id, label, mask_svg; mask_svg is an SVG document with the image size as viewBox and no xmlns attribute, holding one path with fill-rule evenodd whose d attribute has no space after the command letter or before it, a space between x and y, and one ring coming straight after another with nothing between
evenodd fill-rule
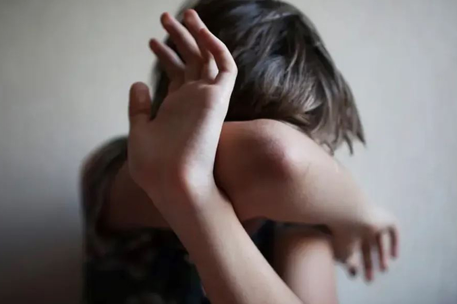
<instances>
[{"instance_id":1,"label":"elbow and forearm held across the face, without the dangling hand","mask_svg":"<svg viewBox=\"0 0 457 304\"><path fill-rule=\"evenodd\" d=\"M234 124L219 145L215 175L237 214L327 225L365 219L367 200L350 173L290 126Z\"/></svg>"}]
</instances>

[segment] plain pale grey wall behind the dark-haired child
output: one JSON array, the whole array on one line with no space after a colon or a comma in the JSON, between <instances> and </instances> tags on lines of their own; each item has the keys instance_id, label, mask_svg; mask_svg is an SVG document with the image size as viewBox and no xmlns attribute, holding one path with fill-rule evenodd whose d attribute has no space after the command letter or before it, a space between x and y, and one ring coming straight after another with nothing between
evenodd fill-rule
<instances>
[{"instance_id":1,"label":"plain pale grey wall behind the dark-haired child","mask_svg":"<svg viewBox=\"0 0 457 304\"><path fill-rule=\"evenodd\" d=\"M457 2L295 0L352 86L368 146L339 158L401 225L401 258L342 303L457 303ZM78 172L127 130L129 85L180 1L0 2L0 301L79 301Z\"/></svg>"}]
</instances>

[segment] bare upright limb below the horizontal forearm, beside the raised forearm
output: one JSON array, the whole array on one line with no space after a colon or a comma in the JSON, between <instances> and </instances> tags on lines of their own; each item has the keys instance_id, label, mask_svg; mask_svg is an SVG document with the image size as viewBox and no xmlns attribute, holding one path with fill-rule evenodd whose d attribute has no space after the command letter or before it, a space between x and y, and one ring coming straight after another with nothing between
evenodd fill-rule
<instances>
[{"instance_id":1,"label":"bare upright limb below the horizontal forearm, beside the raised forearm","mask_svg":"<svg viewBox=\"0 0 457 304\"><path fill-rule=\"evenodd\" d=\"M333 250L324 234L304 227L277 231L273 267L303 302L338 302Z\"/></svg>"}]
</instances>

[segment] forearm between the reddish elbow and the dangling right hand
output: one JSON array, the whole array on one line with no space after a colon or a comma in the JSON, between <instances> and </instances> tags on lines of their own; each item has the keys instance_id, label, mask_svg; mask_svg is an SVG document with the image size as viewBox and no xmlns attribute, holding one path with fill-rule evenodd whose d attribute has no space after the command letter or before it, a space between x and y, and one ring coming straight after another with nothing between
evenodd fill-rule
<instances>
[{"instance_id":1,"label":"forearm between the reddish elbow and the dangling right hand","mask_svg":"<svg viewBox=\"0 0 457 304\"><path fill-rule=\"evenodd\" d=\"M308 148L298 152L295 167L282 180L252 186L234 199L252 202L251 213L279 221L309 224L362 224L367 199L347 170L330 156Z\"/></svg>"}]
</instances>

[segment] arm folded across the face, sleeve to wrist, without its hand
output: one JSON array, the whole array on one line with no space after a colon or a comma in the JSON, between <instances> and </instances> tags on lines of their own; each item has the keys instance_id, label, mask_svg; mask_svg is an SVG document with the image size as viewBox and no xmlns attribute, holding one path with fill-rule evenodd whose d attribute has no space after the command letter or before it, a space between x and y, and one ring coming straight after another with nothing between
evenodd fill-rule
<instances>
[{"instance_id":1,"label":"arm folded across the face, sleeve to wrist, without its hand","mask_svg":"<svg viewBox=\"0 0 457 304\"><path fill-rule=\"evenodd\" d=\"M241 221L259 217L308 224L363 221L359 210L364 198L350 175L310 138L281 122L224 123L214 174ZM336 184L344 186L328 191L338 179ZM132 180L126 163L113 180L110 198L105 221L111 229L168 226Z\"/></svg>"}]
</instances>

